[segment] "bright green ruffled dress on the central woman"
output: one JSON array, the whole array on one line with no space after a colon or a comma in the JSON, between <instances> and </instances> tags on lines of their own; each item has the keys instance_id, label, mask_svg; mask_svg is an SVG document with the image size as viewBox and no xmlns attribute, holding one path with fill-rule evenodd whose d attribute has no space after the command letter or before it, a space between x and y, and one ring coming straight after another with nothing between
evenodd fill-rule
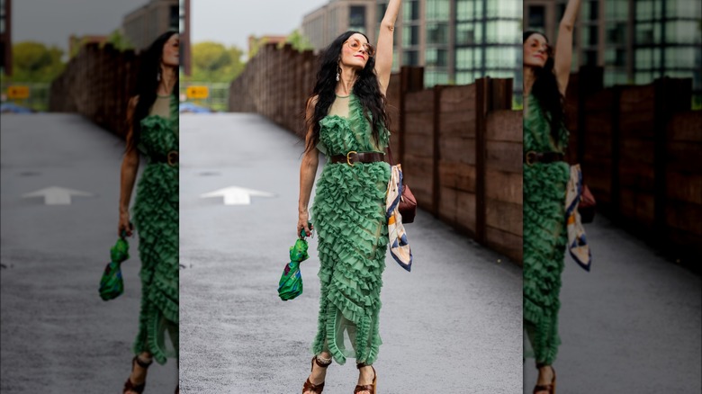
<instances>
[{"instance_id":1,"label":"bright green ruffled dress on the central woman","mask_svg":"<svg viewBox=\"0 0 702 394\"><path fill-rule=\"evenodd\" d=\"M344 103L346 97L338 97ZM320 121L318 148L328 157L347 152L383 152L390 133L374 144L371 125L355 95L348 116L332 113ZM334 106L332 106L333 110ZM324 166L311 208L319 235L320 315L312 353L328 351L343 364L347 358L372 364L382 344L378 333L380 291L385 269L388 228L385 191L390 165L385 162Z\"/></svg>"}]
</instances>

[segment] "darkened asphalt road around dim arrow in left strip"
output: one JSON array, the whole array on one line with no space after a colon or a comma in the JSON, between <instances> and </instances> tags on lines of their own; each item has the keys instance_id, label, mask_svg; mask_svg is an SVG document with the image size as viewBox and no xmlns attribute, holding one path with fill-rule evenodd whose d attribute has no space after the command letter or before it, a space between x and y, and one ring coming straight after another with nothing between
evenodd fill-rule
<instances>
[{"instance_id":1,"label":"darkened asphalt road around dim arrow in left strip","mask_svg":"<svg viewBox=\"0 0 702 394\"><path fill-rule=\"evenodd\" d=\"M139 313L139 254L125 292L98 283L117 239L121 139L73 114L2 115L0 390L118 393L130 373ZM70 205L23 198L59 186L93 194ZM172 393L176 363L154 363L147 392Z\"/></svg>"}]
</instances>

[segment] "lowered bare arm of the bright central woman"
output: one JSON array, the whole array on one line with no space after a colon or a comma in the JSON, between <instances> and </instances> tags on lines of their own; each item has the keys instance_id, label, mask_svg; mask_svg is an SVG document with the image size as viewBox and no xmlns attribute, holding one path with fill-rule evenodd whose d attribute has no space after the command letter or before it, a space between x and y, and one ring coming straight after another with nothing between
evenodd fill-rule
<instances>
[{"instance_id":1,"label":"lowered bare arm of the bright central woman","mask_svg":"<svg viewBox=\"0 0 702 394\"><path fill-rule=\"evenodd\" d=\"M314 107L317 105L317 96L312 97L307 102L306 123L310 124L309 120L314 117ZM307 130L305 137L305 147L308 147L312 138L312 126ZM298 220L297 220L297 235L300 236L300 230L304 228L305 234L309 237L311 229L307 225L310 220L310 213L307 206L310 204L310 195L312 193L312 185L314 184L314 176L317 175L317 166L320 164L320 151L312 147L305 151L300 164L300 200L298 201Z\"/></svg>"}]
</instances>

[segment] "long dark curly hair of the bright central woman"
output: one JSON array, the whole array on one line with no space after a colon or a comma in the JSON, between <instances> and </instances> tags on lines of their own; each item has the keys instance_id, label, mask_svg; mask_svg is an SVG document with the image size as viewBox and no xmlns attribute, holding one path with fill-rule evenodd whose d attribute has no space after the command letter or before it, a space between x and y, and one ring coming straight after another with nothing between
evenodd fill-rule
<instances>
[{"instance_id":1,"label":"long dark curly hair of the bright central woman","mask_svg":"<svg viewBox=\"0 0 702 394\"><path fill-rule=\"evenodd\" d=\"M320 141L320 121L329 114L329 107L336 98L336 76L341 49L344 42L356 33L362 34L368 40L368 37L360 31L347 31L338 36L320 54L320 71L317 73L317 83L310 95L310 99L316 95L318 100L314 107L314 115L306 122L305 130L312 128L311 139L305 146L306 152L315 148ZM390 130L390 117L385 112L385 95L381 93L378 76L375 75L374 58L368 58L364 69L358 73L358 80L354 84L354 95L363 106L365 118L373 126L374 141L378 144L381 130L383 128Z\"/></svg>"}]
</instances>

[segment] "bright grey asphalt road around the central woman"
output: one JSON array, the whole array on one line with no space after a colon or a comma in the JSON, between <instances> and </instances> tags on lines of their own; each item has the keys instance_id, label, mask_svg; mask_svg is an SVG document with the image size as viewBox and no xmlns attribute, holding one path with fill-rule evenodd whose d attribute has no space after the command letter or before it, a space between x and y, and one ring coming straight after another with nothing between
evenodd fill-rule
<instances>
[{"instance_id":1,"label":"bright grey asphalt road around the central woman","mask_svg":"<svg viewBox=\"0 0 702 394\"><path fill-rule=\"evenodd\" d=\"M295 240L302 143L254 114L181 115L181 389L296 393L310 372L320 287L316 239L304 292L276 288ZM201 198L229 186L274 193L250 205ZM419 212L407 273L386 259L379 393L516 393L522 387L521 270ZM329 367L348 393L354 361Z\"/></svg>"}]
</instances>

